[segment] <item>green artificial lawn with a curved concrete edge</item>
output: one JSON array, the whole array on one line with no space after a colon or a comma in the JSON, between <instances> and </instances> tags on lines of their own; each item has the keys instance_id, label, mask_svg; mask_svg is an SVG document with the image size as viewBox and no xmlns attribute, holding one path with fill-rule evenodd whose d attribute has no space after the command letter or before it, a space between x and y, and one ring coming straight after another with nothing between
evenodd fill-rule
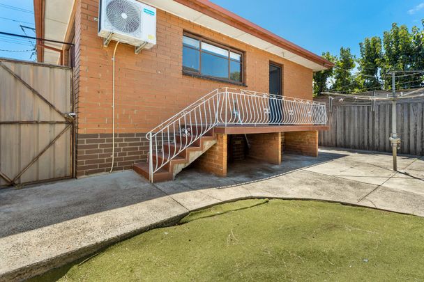
<instances>
[{"instance_id":1,"label":"green artificial lawn with a curved concrete edge","mask_svg":"<svg viewBox=\"0 0 424 282\"><path fill-rule=\"evenodd\" d=\"M424 280L421 217L317 201L247 200L182 222L33 281Z\"/></svg>"}]
</instances>

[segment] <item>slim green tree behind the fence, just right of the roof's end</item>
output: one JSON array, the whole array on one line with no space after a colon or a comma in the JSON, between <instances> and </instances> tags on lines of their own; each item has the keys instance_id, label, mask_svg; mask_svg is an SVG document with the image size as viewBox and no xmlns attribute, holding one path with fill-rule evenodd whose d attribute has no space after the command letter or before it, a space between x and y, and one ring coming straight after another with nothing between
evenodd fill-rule
<instances>
[{"instance_id":1,"label":"slim green tree behind the fence, just right of the roof's end","mask_svg":"<svg viewBox=\"0 0 424 282\"><path fill-rule=\"evenodd\" d=\"M355 68L355 58L350 52L350 48L340 48L340 56L335 62L333 91L349 91L355 88L356 81L351 75Z\"/></svg>"}]
</instances>

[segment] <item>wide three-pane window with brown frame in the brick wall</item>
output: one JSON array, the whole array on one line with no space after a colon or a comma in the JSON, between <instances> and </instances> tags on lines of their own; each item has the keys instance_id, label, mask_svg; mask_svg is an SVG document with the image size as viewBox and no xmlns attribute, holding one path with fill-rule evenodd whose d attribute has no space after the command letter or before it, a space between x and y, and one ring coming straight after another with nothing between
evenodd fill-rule
<instances>
[{"instance_id":1,"label":"wide three-pane window with brown frame in the brick wall","mask_svg":"<svg viewBox=\"0 0 424 282\"><path fill-rule=\"evenodd\" d=\"M243 83L243 53L197 36L183 36L183 72Z\"/></svg>"}]
</instances>

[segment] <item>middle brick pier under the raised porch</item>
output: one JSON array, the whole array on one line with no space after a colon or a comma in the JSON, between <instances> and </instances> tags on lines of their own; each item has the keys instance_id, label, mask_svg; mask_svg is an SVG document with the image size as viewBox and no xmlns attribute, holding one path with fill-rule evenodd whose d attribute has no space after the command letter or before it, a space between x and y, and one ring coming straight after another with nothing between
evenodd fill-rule
<instances>
[{"instance_id":1,"label":"middle brick pier under the raised porch","mask_svg":"<svg viewBox=\"0 0 424 282\"><path fill-rule=\"evenodd\" d=\"M271 164L281 164L281 133L248 134L249 156Z\"/></svg>"}]
</instances>

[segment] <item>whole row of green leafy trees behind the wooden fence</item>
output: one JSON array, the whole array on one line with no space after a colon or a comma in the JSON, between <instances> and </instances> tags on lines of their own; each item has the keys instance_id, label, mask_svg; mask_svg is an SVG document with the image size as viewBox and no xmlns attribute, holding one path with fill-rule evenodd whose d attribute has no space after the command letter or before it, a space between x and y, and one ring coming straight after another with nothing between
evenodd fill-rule
<instances>
[{"instance_id":1,"label":"whole row of green leafy trees behind the wooden fence","mask_svg":"<svg viewBox=\"0 0 424 282\"><path fill-rule=\"evenodd\" d=\"M324 53L323 57L333 61L335 68L315 73L314 95L328 90L359 93L391 89L393 70L398 71L396 88L423 86L423 73L409 72L424 70L424 19L421 24L421 29L414 26L409 31L407 26L393 23L382 40L379 36L365 38L359 43L359 58L345 47L340 48L339 56Z\"/></svg>"}]
</instances>

